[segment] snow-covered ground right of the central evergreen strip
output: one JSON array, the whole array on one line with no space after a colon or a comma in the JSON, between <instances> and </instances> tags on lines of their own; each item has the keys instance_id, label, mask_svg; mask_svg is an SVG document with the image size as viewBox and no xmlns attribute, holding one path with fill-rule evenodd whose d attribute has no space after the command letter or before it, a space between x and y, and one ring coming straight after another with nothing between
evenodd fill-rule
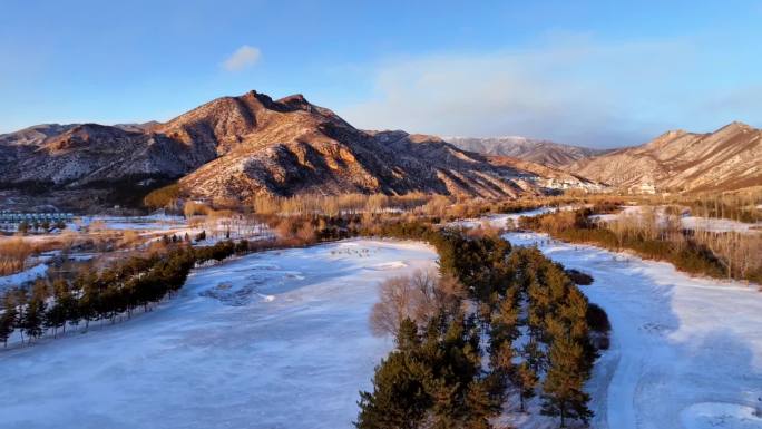
<instances>
[{"instance_id":1,"label":"snow-covered ground right of the central evergreen strip","mask_svg":"<svg viewBox=\"0 0 762 429\"><path fill-rule=\"evenodd\" d=\"M583 286L612 321L612 348L588 391L594 428L762 428L762 293L741 283L694 279L647 262L541 234L538 244L567 267L593 274Z\"/></svg>"}]
</instances>

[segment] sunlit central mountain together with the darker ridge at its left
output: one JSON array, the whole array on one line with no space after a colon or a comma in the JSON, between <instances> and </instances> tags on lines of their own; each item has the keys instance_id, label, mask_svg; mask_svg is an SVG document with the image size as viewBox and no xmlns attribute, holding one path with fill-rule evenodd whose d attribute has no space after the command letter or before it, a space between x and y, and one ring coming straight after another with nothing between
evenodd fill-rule
<instances>
[{"instance_id":1,"label":"sunlit central mountain together with the darker ridge at its left","mask_svg":"<svg viewBox=\"0 0 762 429\"><path fill-rule=\"evenodd\" d=\"M301 95L273 100L256 91L215 99L164 124L41 125L0 135L0 162L2 188L21 191L179 179L188 196L209 199L544 192L536 173L438 137L356 129Z\"/></svg>"}]
</instances>

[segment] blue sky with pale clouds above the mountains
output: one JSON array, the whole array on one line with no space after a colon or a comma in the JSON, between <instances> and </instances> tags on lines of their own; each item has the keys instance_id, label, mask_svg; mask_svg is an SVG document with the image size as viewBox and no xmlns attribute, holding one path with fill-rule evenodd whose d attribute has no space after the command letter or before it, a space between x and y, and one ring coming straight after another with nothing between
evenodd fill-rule
<instances>
[{"instance_id":1,"label":"blue sky with pale clouds above the mountains","mask_svg":"<svg viewBox=\"0 0 762 429\"><path fill-rule=\"evenodd\" d=\"M359 128L589 147L762 126L762 0L0 2L0 133L255 89Z\"/></svg>"}]
</instances>

